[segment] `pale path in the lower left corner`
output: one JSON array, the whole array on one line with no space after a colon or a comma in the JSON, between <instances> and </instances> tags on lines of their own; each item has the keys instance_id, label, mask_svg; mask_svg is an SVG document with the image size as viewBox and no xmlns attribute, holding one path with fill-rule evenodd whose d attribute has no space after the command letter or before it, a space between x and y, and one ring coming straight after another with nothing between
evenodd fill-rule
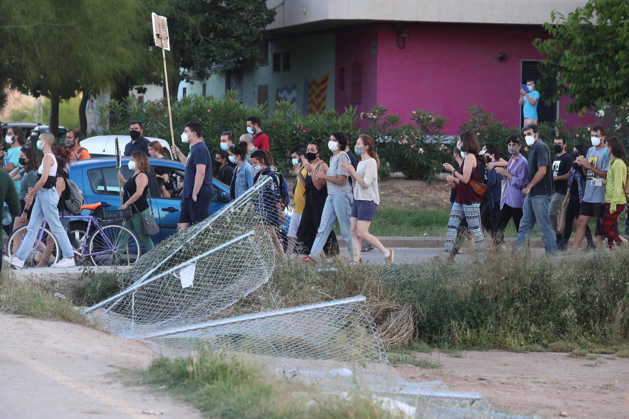
<instances>
[{"instance_id":1,"label":"pale path in the lower left corner","mask_svg":"<svg viewBox=\"0 0 629 419\"><path fill-rule=\"evenodd\" d=\"M0 417L200 418L198 411L118 383L118 367L145 368L156 354L90 328L0 314Z\"/></svg>"}]
</instances>

